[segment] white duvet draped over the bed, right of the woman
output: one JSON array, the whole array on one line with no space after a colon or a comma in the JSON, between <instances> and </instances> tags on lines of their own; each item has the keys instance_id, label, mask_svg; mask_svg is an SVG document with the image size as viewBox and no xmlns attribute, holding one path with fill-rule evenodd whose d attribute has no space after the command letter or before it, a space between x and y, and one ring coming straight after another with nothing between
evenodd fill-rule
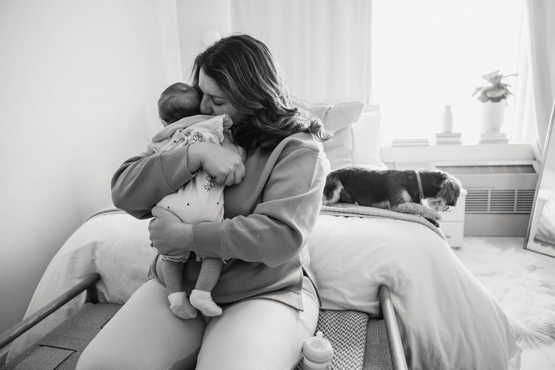
<instances>
[{"instance_id":1,"label":"white duvet draped over the bed, right of the woman","mask_svg":"<svg viewBox=\"0 0 555 370\"><path fill-rule=\"evenodd\" d=\"M501 307L432 229L321 215L309 242L322 308L376 316L377 289L387 284L412 369L520 368L522 348Z\"/></svg>"}]
</instances>

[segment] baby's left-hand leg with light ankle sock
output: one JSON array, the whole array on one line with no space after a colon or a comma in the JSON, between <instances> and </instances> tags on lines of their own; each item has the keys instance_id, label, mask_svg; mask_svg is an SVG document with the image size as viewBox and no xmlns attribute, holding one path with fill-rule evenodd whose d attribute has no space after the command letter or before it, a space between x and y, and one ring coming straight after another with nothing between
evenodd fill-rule
<instances>
[{"instance_id":1,"label":"baby's left-hand leg with light ankle sock","mask_svg":"<svg viewBox=\"0 0 555 370\"><path fill-rule=\"evenodd\" d=\"M162 274L169 293L168 299L171 311L179 318L190 319L196 317L196 308L191 306L183 291L184 270L185 263L183 262L174 262L167 259L162 261Z\"/></svg>"}]
</instances>

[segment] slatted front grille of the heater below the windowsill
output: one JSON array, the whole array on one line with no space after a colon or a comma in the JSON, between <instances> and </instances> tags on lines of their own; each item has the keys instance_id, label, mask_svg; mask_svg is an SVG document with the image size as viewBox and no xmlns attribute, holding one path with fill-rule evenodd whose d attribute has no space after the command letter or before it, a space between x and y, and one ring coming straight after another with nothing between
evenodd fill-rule
<instances>
[{"instance_id":1,"label":"slatted front grille of the heater below the windowsill","mask_svg":"<svg viewBox=\"0 0 555 370\"><path fill-rule=\"evenodd\" d=\"M465 213L530 213L534 190L470 189Z\"/></svg>"}]
</instances>

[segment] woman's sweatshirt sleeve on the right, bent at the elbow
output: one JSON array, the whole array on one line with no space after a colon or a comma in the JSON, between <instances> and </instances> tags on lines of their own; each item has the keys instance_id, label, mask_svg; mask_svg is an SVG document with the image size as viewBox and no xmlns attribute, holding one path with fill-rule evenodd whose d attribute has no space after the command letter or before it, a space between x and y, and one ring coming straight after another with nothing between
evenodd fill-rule
<instances>
[{"instance_id":1,"label":"woman's sweatshirt sleeve on the right, bent at the elbow","mask_svg":"<svg viewBox=\"0 0 555 370\"><path fill-rule=\"evenodd\" d=\"M259 261L275 267L305 245L322 204L324 165L319 150L299 147L280 154L254 213L221 222L197 223L198 256Z\"/></svg>"}]
</instances>

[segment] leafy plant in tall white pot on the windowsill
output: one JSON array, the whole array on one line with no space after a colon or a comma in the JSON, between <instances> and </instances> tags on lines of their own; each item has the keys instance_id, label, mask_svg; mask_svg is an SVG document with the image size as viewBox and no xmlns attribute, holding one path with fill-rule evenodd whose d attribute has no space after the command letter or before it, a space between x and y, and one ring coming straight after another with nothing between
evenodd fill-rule
<instances>
[{"instance_id":1,"label":"leafy plant in tall white pot on the windowsill","mask_svg":"<svg viewBox=\"0 0 555 370\"><path fill-rule=\"evenodd\" d=\"M500 138L499 132L501 131L501 126L503 126L503 118L505 107L507 104L507 97L512 95L509 91L511 85L501 82L502 79L518 76L518 73L509 74L508 76L503 76L499 74L499 71L494 71L482 76L490 86L478 86L472 96L480 93L478 95L478 101L482 102L482 114L481 114L481 124L482 124L482 139L483 142L489 141L489 139ZM503 141L504 134L502 135Z\"/></svg>"}]
</instances>

